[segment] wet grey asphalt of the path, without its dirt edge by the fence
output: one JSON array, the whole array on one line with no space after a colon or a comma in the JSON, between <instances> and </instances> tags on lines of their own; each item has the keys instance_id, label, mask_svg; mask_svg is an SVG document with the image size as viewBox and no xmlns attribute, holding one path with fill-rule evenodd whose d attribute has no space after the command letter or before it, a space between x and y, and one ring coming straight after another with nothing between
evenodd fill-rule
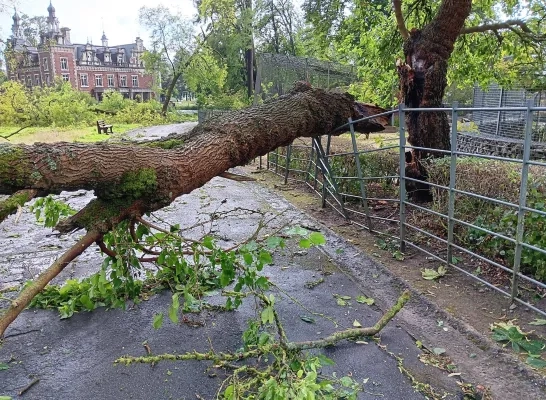
<instances>
[{"instance_id":1,"label":"wet grey asphalt of the path, without its dirt edge by the fence","mask_svg":"<svg viewBox=\"0 0 546 400\"><path fill-rule=\"evenodd\" d=\"M176 128L176 127L174 127ZM161 128L163 134L171 128ZM138 134L138 133L137 133ZM156 135L151 130L147 135ZM140 136L140 135L139 135ZM62 193L61 198L75 208L83 207L92 193ZM242 209L246 211L241 211ZM325 337L336 329L350 328L358 320L363 326L372 325L381 316L375 306L350 301L349 306L337 305L333 294L351 296L363 293L351 276L343 273L327 255L326 248L341 254L347 244L332 236L294 209L284 199L255 183L237 183L215 178L203 188L177 199L157 215L182 227L198 220L207 220L214 211L234 210L231 215L215 222L214 234L224 243L237 242L251 235L258 221L277 216L270 229L282 225L301 225L323 230L328 236L324 249L308 251L289 247L274 256L274 265L264 269L269 279L292 299L273 290L276 307L290 340L310 340ZM249 211L253 210L253 211ZM194 231L197 236L200 232ZM19 217L10 217L0 226L0 289L18 287L31 279L61 254L81 232L56 235L51 229L36 224L25 207ZM101 257L96 248L89 248L56 279L83 277L98 270ZM327 272L325 274L325 272ZM314 289L306 283L324 278ZM297 301L294 301L297 299ZM222 299L212 297L212 303ZM299 304L297 304L299 303ZM170 294L163 293L127 310L98 309L82 312L70 319L60 320L56 311L27 310L8 328L0 347L0 396L18 398L18 392L34 379L25 399L213 399L226 375L210 363L200 361L161 362L150 365L120 366L113 361L122 355L146 354L147 342L154 354L187 351L234 351L241 346L241 334L247 320L256 315L254 302L247 300L235 312L204 311L188 317L199 321L199 327L174 325L169 321L159 330L152 328L153 316L165 312ZM302 305L305 307L302 308ZM330 319L314 317L309 324L300 317L310 311ZM390 343L389 350L401 357L416 359L419 349L414 339L397 326L396 319L384 329L382 342ZM350 374L364 384L361 399L422 399L409 379L401 374L396 359L376 343L344 342L322 350L335 361L324 369L337 376Z\"/></svg>"}]
</instances>

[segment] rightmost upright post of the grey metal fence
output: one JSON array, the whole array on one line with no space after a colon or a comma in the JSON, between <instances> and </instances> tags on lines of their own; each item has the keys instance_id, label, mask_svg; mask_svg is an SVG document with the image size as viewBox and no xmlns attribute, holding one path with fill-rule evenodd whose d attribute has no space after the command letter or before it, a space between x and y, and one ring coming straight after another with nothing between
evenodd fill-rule
<instances>
[{"instance_id":1,"label":"rightmost upright post of the grey metal fence","mask_svg":"<svg viewBox=\"0 0 546 400\"><path fill-rule=\"evenodd\" d=\"M521 184L519 188L519 206L518 206L518 225L516 228L516 250L514 254L514 269L512 271L512 291L510 299L518 295L518 274L521 267L521 251L523 242L523 229L525 225L525 210L527 204L527 179L529 176L529 159L531 153L531 134L533 125L533 113L531 108L533 101L527 101L526 121L525 121L525 142L523 143L523 166L521 167Z\"/></svg>"}]
</instances>

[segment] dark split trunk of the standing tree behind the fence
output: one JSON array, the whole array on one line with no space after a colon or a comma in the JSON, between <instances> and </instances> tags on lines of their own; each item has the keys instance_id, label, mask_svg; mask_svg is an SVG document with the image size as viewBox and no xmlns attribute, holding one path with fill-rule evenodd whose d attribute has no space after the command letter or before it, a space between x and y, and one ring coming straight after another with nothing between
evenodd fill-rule
<instances>
[{"instance_id":1,"label":"dark split trunk of the standing tree behind the fence","mask_svg":"<svg viewBox=\"0 0 546 400\"><path fill-rule=\"evenodd\" d=\"M442 107L447 86L448 60L470 14L472 0L444 0L435 18L422 30L413 29L404 43L404 62L398 63L400 100L410 108ZM445 112L408 112L406 126L412 146L450 149L450 129ZM457 123L457 121L453 121ZM422 160L441 157L434 150L414 149L407 158L409 177L426 180ZM428 186L409 190L428 192ZM426 195L421 200L426 200Z\"/></svg>"}]
</instances>

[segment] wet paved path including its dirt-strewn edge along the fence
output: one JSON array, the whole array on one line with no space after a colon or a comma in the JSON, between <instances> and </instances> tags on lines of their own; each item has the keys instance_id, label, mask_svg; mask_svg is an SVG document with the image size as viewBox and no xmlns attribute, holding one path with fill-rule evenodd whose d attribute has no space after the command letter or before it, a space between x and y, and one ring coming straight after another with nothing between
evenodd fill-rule
<instances>
[{"instance_id":1,"label":"wet paved path including its dirt-strewn edge along the fence","mask_svg":"<svg viewBox=\"0 0 546 400\"><path fill-rule=\"evenodd\" d=\"M128 136L147 140L182 132L194 125L152 127L130 132ZM78 209L93 194L79 191L62 193L59 197ZM381 316L381 310L390 307L406 288L404 282L375 260L258 183L215 178L154 215L188 227L196 221L208 221L213 212L226 212L227 217L212 226L212 232L226 246L251 235L263 217L276 217L270 230L285 224L300 225L318 229L326 236L327 243L320 248L301 251L289 246L277 252L274 265L263 271L288 294L272 291L292 341L323 338L352 327L355 320L371 326ZM201 234L193 230L185 236ZM11 216L4 221L0 225L0 294L35 277L81 235L82 232L58 235L39 226L28 206L18 218ZM99 269L101 262L98 248L91 247L54 282L88 276ZM314 289L306 285L320 278L324 282ZM334 294L351 296L350 304L339 306ZM373 297L375 305L354 301L360 294ZM216 296L209 301L220 304L223 299ZM173 325L166 319L161 329L154 330L154 315L166 312L169 305L170 293L162 293L127 310L98 309L66 320L60 320L56 311L26 310L8 328L0 347L0 366L7 365L7 369L0 368L0 396L40 400L216 398L226 375L210 363L182 361L161 362L154 367L126 367L116 366L113 361L127 354L145 355L145 342L154 354L208 351L211 345L216 351L235 351L241 347L247 320L256 316L253 301L245 301L235 312L187 315L198 324ZM328 318L314 316L316 323L304 322L301 316L309 316L311 311ZM337 328L332 320L338 324ZM416 340L429 349L445 348L461 376L449 376L419 361L421 350ZM424 398L400 372L399 362L416 382L432 385L436 393L445 394L447 399L461 398L456 382L460 378L491 386L496 399L546 398L540 377L530 374L510 353L499 350L471 327L415 292L381 332L379 343L342 342L321 351L336 363L323 372L335 372L337 376L350 374L363 384L359 399ZM19 397L19 391L35 379L39 379L38 383Z\"/></svg>"}]
</instances>

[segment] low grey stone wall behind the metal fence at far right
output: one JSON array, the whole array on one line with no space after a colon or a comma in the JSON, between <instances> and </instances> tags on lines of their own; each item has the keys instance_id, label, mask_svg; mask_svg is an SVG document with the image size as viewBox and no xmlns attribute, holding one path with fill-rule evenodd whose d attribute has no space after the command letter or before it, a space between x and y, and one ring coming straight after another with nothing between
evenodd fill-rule
<instances>
[{"instance_id":1,"label":"low grey stone wall behind the metal fence at far right","mask_svg":"<svg viewBox=\"0 0 546 400\"><path fill-rule=\"evenodd\" d=\"M523 140L487 134L459 132L457 150L507 158L523 158ZM531 143L531 159L546 159L546 143Z\"/></svg>"}]
</instances>

